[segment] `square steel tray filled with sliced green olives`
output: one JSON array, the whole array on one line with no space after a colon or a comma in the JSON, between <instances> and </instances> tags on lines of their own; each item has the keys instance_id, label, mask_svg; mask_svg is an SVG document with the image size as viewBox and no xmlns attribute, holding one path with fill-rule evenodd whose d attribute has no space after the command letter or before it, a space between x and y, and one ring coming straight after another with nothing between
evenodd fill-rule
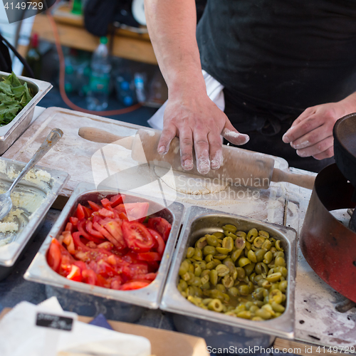
<instances>
[{"instance_id":1,"label":"square steel tray filled with sliced green olives","mask_svg":"<svg viewBox=\"0 0 356 356\"><path fill-rule=\"evenodd\" d=\"M295 239L285 226L192 206L161 309L293 337Z\"/></svg>"}]
</instances>

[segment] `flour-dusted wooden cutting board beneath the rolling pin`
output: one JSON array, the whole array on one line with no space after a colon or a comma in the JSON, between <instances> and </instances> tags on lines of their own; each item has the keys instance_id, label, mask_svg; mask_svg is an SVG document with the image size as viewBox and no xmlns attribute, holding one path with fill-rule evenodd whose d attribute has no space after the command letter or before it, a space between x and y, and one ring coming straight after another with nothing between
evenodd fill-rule
<instances>
[{"instance_id":1,"label":"flour-dusted wooden cutting board beneath the rolling pin","mask_svg":"<svg viewBox=\"0 0 356 356\"><path fill-rule=\"evenodd\" d=\"M58 144L41 159L38 165L59 169L70 174L66 187L63 188L60 197L53 206L56 209L63 209L68 197L79 182L98 185L109 177L115 177L115 173L130 169L130 171L127 171L130 172L127 182L137 181L140 183L140 179L150 174L150 169L147 169L147 167L137 167L137 162L131 158L130 150L119 145L91 142L78 135L80 127L96 127L118 136L130 136L135 135L137 130L142 128L141 126L62 108L44 110L19 140L4 153L3 157L28 162L45 140L48 132L55 127L63 130L64 135ZM284 159L273 158L275 159L275 167L288 169L288 163ZM100 160L101 162L99 162ZM135 171L135 169L137 170ZM138 186L140 188L137 191L128 189L125 184L120 185L120 189L147 195L147 186L144 184L138 184ZM256 192L258 197L251 195L251 192L246 194L248 193L246 187L229 187L221 194L197 196L177 193L174 189L162 187L165 187L164 198L168 201L179 201L185 206L205 206L231 214L283 224L286 201L285 186L285 183L272 183L269 189ZM150 197L162 199L160 187L155 190L150 186L149 193Z\"/></svg>"}]
</instances>

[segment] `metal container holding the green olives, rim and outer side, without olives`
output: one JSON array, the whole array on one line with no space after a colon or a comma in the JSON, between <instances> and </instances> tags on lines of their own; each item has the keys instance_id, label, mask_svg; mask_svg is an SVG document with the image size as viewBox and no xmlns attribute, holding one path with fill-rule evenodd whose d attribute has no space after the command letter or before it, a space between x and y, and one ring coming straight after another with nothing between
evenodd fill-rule
<instances>
[{"instance_id":1,"label":"metal container holding the green olives, rim and outer side, without olives","mask_svg":"<svg viewBox=\"0 0 356 356\"><path fill-rule=\"evenodd\" d=\"M253 350L253 347L268 347L276 336L293 338L295 318L295 230L198 206L189 208L187 214L160 305L162 310L176 313L174 315L174 324L177 330L204 337L206 344L210 347L231 347L229 352L240 354L263 353L259 348ZM194 243L205 234L223 231L222 226L226 224L234 224L238 230L242 231L248 231L256 227L256 229L268 231L272 236L276 236L276 239L281 240L281 245L286 253L288 267L288 290L286 310L280 317L265 321L234 318L230 315L199 308L190 303L177 290L179 266L186 256L187 248L194 246ZM241 348L244 349L245 347L252 347L252 350L241 350Z\"/></svg>"}]
</instances>

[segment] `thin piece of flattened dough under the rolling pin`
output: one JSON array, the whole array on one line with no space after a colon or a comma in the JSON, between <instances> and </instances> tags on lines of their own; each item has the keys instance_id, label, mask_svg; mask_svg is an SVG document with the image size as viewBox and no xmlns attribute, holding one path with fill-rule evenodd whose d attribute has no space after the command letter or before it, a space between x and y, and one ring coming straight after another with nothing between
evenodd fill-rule
<instances>
[{"instance_id":1,"label":"thin piece of flattened dough under the rolling pin","mask_svg":"<svg viewBox=\"0 0 356 356\"><path fill-rule=\"evenodd\" d=\"M171 171L169 169L155 166L155 173L161 177L162 181L168 187L183 194L214 194L226 189L229 183L217 182L217 179L209 179L194 174L182 174L181 172ZM172 174L173 172L173 174Z\"/></svg>"}]
</instances>

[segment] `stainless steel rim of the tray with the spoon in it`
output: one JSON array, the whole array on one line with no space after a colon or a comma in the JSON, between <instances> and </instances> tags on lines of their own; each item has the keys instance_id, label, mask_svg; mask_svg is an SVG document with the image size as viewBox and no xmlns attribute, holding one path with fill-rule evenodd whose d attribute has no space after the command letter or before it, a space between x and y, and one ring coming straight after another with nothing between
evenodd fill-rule
<instances>
[{"instance_id":1,"label":"stainless steel rim of the tray with the spoon in it","mask_svg":"<svg viewBox=\"0 0 356 356\"><path fill-rule=\"evenodd\" d=\"M8 162L8 164L17 167L19 171L21 171L21 169L23 169L23 167L26 165L23 162L15 161L14 159L7 159L4 157L0 157L0 160ZM28 221L28 224L23 228L21 234L16 237L16 241L12 243L14 246L16 246L16 248L14 248L14 253L11 253L11 256L8 258L3 258L0 255L0 266L11 267L14 265L16 259L19 257L21 251L26 246L28 240L31 239L32 234L36 231L38 224L41 223L43 217L47 214L48 209L51 208L51 205L58 197L59 192L61 192L61 189L69 179L68 173L58 171L56 169L50 169L37 165L33 167L33 169L41 169L50 173L51 177L53 177L53 185L51 189L46 192L46 197L43 199L43 201L41 201L41 206L39 206L38 209L33 212L31 219ZM31 185L32 184L28 184L28 186Z\"/></svg>"}]
</instances>

